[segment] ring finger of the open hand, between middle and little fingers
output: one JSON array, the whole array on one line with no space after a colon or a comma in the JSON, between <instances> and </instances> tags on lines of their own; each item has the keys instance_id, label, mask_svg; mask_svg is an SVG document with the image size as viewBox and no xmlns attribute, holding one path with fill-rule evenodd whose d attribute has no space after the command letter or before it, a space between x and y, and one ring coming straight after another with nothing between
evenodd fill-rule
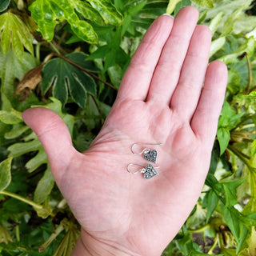
<instances>
[{"instance_id":1,"label":"ring finger of the open hand, between middle and little fingers","mask_svg":"<svg viewBox=\"0 0 256 256\"><path fill-rule=\"evenodd\" d=\"M170 108L184 120L190 119L198 105L210 54L211 31L207 26L195 28L182 66Z\"/></svg>"}]
</instances>

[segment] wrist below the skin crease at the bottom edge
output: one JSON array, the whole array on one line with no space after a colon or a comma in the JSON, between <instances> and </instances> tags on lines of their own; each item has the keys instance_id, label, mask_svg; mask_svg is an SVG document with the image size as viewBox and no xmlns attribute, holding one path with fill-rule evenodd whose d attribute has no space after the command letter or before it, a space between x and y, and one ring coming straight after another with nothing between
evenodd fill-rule
<instances>
[{"instance_id":1,"label":"wrist below the skin crease at the bottom edge","mask_svg":"<svg viewBox=\"0 0 256 256\"><path fill-rule=\"evenodd\" d=\"M122 246L94 238L82 230L71 256L140 256Z\"/></svg>"}]
</instances>

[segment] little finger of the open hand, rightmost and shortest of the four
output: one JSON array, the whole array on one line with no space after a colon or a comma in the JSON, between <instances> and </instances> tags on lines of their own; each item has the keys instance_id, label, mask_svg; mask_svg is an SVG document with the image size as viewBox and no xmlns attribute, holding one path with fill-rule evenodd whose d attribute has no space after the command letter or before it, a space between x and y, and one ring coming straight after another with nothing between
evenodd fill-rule
<instances>
[{"instance_id":1,"label":"little finger of the open hand, rightmost and shortest of the four","mask_svg":"<svg viewBox=\"0 0 256 256\"><path fill-rule=\"evenodd\" d=\"M214 142L218 117L222 110L226 82L226 65L219 61L210 63L206 71L206 82L202 89L201 98L191 121L191 128L194 130L194 134L203 143L210 146L210 149Z\"/></svg>"}]
</instances>

